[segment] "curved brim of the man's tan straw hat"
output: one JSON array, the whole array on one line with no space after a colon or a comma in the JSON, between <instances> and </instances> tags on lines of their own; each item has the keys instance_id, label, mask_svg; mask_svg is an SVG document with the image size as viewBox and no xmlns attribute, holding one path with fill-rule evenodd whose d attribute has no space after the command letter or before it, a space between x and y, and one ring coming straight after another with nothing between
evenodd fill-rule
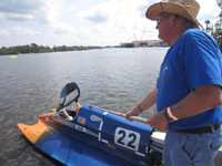
<instances>
[{"instance_id":1,"label":"curved brim of the man's tan straw hat","mask_svg":"<svg viewBox=\"0 0 222 166\"><path fill-rule=\"evenodd\" d=\"M191 15L191 13L188 10L185 10L183 6L179 3L172 3L172 2L154 3L148 8L145 17L150 20L157 20L159 19L160 14L164 12L174 13L180 17L183 17L198 25L196 20Z\"/></svg>"}]
</instances>

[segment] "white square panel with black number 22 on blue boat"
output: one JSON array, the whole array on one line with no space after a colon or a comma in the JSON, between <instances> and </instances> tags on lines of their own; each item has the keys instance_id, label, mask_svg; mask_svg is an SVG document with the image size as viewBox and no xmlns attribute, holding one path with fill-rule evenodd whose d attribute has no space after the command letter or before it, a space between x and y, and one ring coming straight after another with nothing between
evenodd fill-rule
<instances>
[{"instance_id":1,"label":"white square panel with black number 22 on blue boat","mask_svg":"<svg viewBox=\"0 0 222 166\"><path fill-rule=\"evenodd\" d=\"M114 143L120 146L138 151L140 133L118 127L114 133Z\"/></svg>"}]
</instances>

